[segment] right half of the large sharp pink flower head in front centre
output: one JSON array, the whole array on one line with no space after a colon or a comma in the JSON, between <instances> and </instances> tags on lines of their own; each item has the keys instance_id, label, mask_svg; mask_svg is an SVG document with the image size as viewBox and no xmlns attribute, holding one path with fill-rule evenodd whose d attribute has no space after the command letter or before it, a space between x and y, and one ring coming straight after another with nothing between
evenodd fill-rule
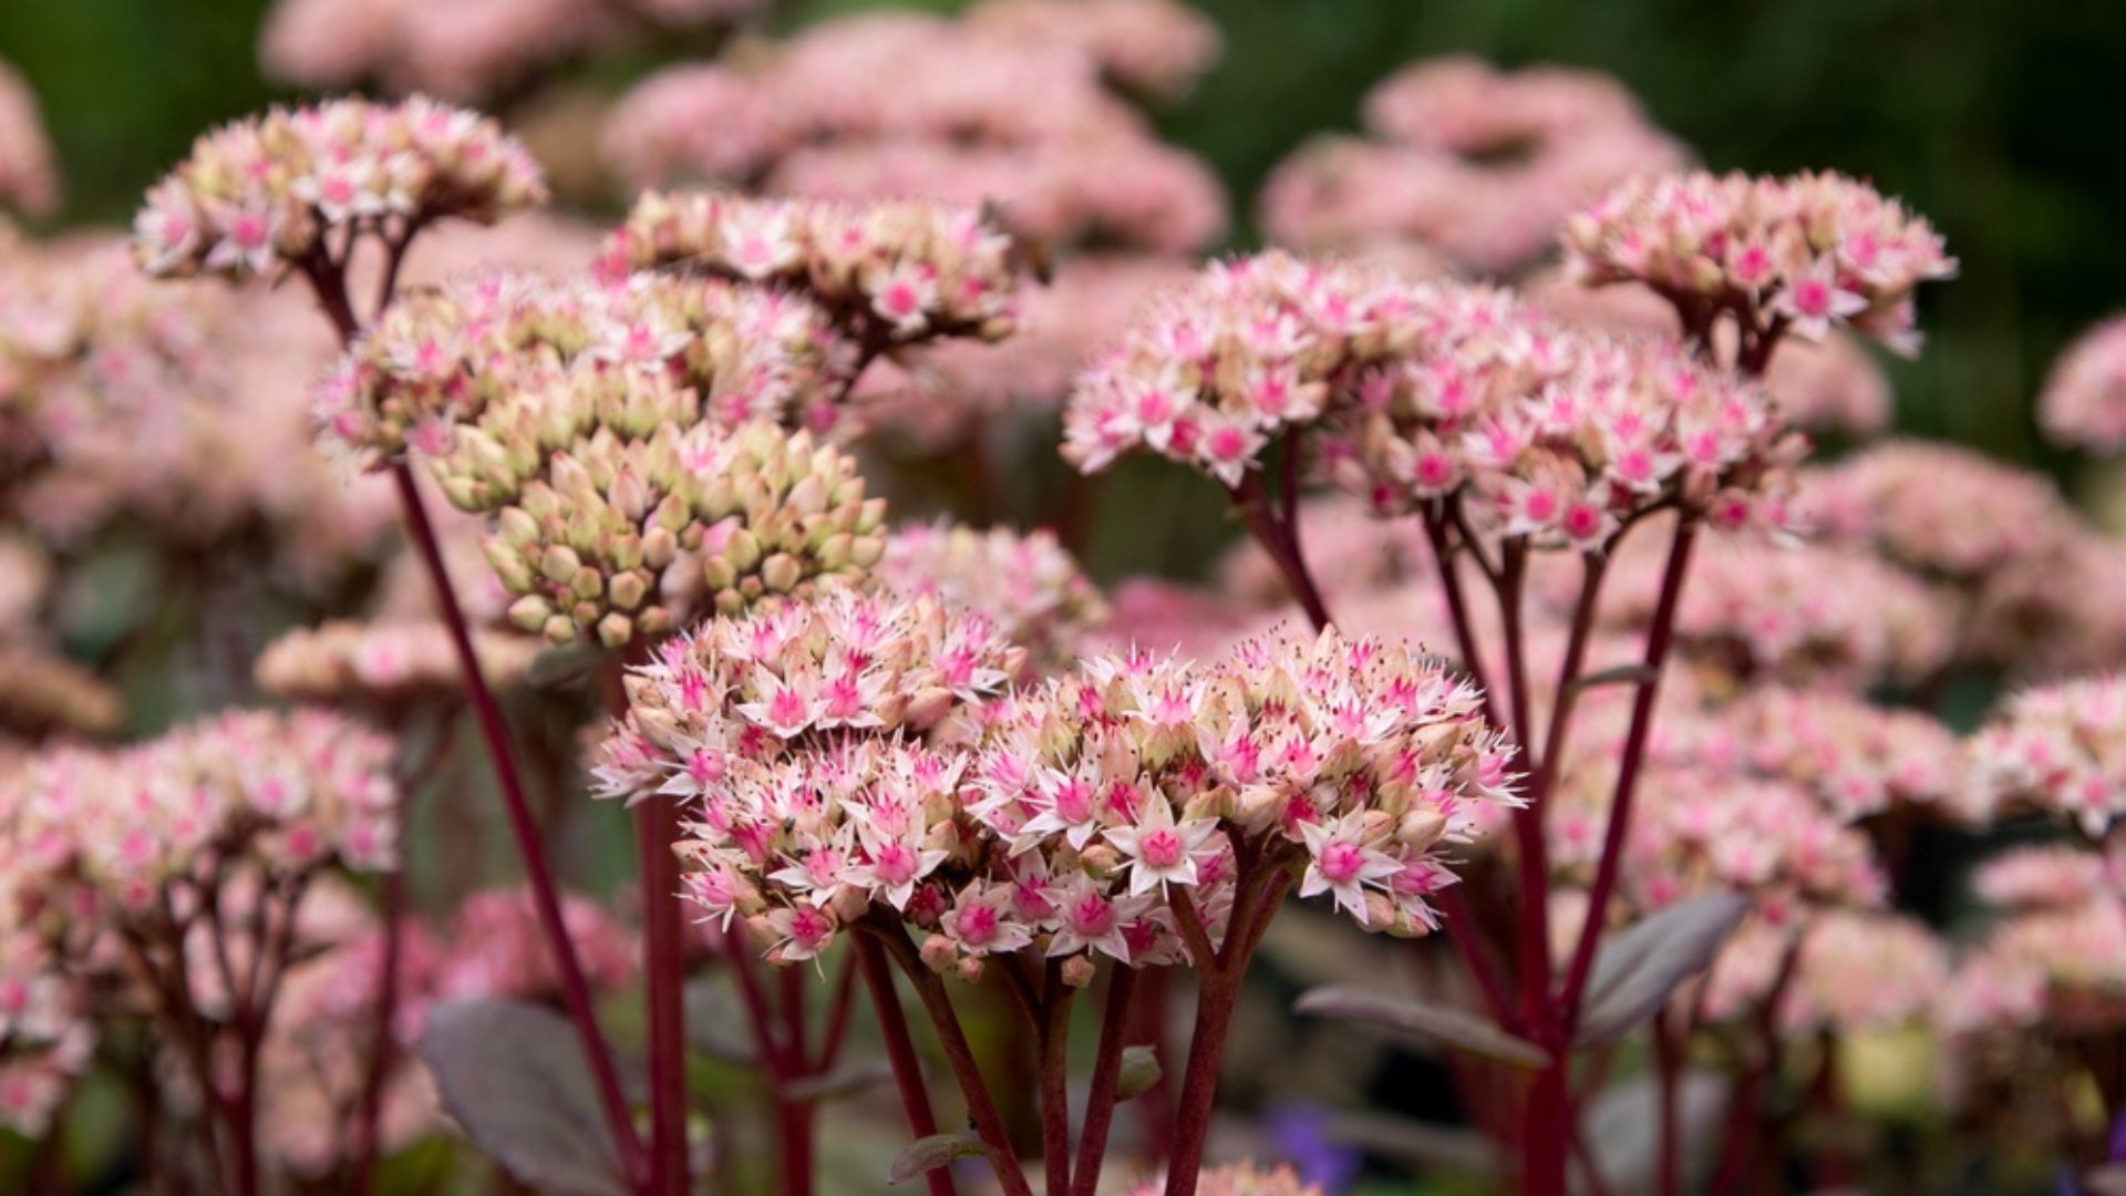
<instances>
[{"instance_id":1,"label":"right half of the large sharp pink flower head in front centre","mask_svg":"<svg viewBox=\"0 0 2126 1196\"><path fill-rule=\"evenodd\" d=\"M1242 853L1303 864L1299 896L1327 894L1367 930L1427 934L1429 896L1454 883L1444 849L1473 838L1482 807L1514 802L1512 751L1475 690L1335 630L1271 632L1210 666L1084 660L980 724L965 813L1003 870L955 894L933 966L989 953L980 930L999 919L1050 958L1205 964L1233 926ZM1010 904L1027 887L1044 900Z\"/></svg>"}]
</instances>

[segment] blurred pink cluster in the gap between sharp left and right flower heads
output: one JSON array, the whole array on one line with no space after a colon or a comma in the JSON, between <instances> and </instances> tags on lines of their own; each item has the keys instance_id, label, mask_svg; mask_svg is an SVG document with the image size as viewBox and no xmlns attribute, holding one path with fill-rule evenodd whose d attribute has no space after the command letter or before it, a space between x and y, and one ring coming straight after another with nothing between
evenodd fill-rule
<instances>
[{"instance_id":1,"label":"blurred pink cluster in the gap between sharp left and right flower heads","mask_svg":"<svg viewBox=\"0 0 2126 1196\"><path fill-rule=\"evenodd\" d=\"M948 340L904 362L880 362L850 398L865 428L921 451L950 449L999 423L1048 417L1078 368L1120 336L1146 300L1186 283L1191 272L1176 258L1065 258L1046 285L1020 292L1010 338Z\"/></svg>"}]
</instances>

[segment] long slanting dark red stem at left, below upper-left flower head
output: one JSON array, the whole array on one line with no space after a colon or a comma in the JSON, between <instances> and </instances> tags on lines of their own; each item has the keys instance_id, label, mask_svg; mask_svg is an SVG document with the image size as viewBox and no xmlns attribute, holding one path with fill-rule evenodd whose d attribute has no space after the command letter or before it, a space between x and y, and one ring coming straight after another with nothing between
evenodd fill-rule
<instances>
[{"instance_id":1,"label":"long slanting dark red stem at left, below upper-left flower head","mask_svg":"<svg viewBox=\"0 0 2126 1196\"><path fill-rule=\"evenodd\" d=\"M532 807L525 802L517 760L510 755L510 730L502 717L502 704L487 685L487 677L480 675L480 658L472 649L472 630L466 624L466 611L457 602L451 570L442 564L442 549L436 543L436 528L427 519L427 506L406 462L391 464L391 481L398 483L406 532L412 536L421 564L427 568L436 592L436 609L451 632L451 647L457 651L457 666L466 677L466 700L472 702L474 719L480 726L480 743L487 747L487 760L495 770L495 785L502 790L502 809L508 815L510 834L517 838L517 856L523 860L525 877L532 883L532 907L538 913L540 930L546 934L546 945L553 949L555 970L561 977L561 1000L568 1007L570 1021L576 1026L576 1039L583 1043L591 1077L597 1081L597 1100L606 1111L606 1128L612 1134L631 1187L648 1192L648 1160L642 1153L642 1141L636 1136L636 1124L621 1092L612 1049L606 1045L606 1036L597 1028L597 1015L591 1009L591 983L583 975L576 945L568 938L568 921L561 919L561 898L553 881L553 868L546 864L546 847L540 841L538 824L532 819Z\"/></svg>"}]
</instances>

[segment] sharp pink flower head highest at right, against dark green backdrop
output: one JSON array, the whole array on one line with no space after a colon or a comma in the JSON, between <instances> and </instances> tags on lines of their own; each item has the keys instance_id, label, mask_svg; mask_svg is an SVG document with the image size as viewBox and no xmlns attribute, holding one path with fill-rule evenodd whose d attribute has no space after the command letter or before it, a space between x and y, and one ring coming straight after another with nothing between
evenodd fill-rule
<instances>
[{"instance_id":1,"label":"sharp pink flower head highest at right, against dark green backdrop","mask_svg":"<svg viewBox=\"0 0 2126 1196\"><path fill-rule=\"evenodd\" d=\"M1835 326L1913 353L1911 292L1956 275L1924 217L1867 183L1809 172L1633 179L1565 223L1565 266L1586 285L1652 287L1701 340L1733 317L1745 355Z\"/></svg>"}]
</instances>

